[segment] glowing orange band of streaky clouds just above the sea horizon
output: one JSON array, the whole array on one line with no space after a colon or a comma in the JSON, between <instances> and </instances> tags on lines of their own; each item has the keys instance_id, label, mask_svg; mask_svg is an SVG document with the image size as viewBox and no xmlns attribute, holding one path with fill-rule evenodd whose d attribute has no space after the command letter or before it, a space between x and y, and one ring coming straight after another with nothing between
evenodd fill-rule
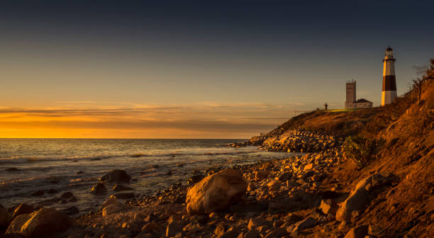
<instances>
[{"instance_id":1,"label":"glowing orange band of streaky clouds just above the sea horizon","mask_svg":"<svg viewBox=\"0 0 434 238\"><path fill-rule=\"evenodd\" d=\"M294 111L294 104L211 102L102 109L0 108L0 137L247 138L301 112Z\"/></svg>"}]
</instances>

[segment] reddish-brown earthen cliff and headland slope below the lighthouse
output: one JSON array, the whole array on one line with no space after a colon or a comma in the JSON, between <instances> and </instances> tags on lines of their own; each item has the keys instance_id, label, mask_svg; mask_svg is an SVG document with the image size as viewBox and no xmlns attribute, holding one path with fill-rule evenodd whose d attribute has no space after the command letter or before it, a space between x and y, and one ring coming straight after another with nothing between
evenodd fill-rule
<instances>
[{"instance_id":1,"label":"reddish-brown earthen cliff and headland slope below the lighthouse","mask_svg":"<svg viewBox=\"0 0 434 238\"><path fill-rule=\"evenodd\" d=\"M252 137L249 143L268 150L311 152L312 149L304 148L322 144L323 140L313 140L318 136L325 138L328 145L335 142L330 147L339 147L343 138L350 135L382 140L365 167L357 169L352 159L347 159L329 174L323 186L338 183L342 191L351 193L357 190L362 178L387 174L392 178L389 187L379 191L366 209L352 214L350 223L379 224L377 237L434 237L434 81L429 77L432 72L433 65L427 70L420 96L418 85L414 85L388 106L305 113L264 137ZM288 143L294 140L301 142L302 147L299 143L295 146ZM340 232L343 227L328 229Z\"/></svg>"}]
</instances>

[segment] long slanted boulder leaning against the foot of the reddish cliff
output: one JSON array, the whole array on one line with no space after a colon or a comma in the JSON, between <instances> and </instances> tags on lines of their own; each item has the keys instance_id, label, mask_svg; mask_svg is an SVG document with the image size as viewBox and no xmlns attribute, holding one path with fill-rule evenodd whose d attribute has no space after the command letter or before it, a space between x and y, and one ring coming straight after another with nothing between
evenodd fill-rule
<instances>
[{"instance_id":1,"label":"long slanted boulder leaning against the foot of the reddish cliff","mask_svg":"<svg viewBox=\"0 0 434 238\"><path fill-rule=\"evenodd\" d=\"M357 183L350 196L340 205L340 208L336 212L336 220L350 221L353 211L362 210L369 205L375 195L373 193L374 188L382 186L387 181L389 179L379 174L373 174L362 179L362 181Z\"/></svg>"}]
</instances>

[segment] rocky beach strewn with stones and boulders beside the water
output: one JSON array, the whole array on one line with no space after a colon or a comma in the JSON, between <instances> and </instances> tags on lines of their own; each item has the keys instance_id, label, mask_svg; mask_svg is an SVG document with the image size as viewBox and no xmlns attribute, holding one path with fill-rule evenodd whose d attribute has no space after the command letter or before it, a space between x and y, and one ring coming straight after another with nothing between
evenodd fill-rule
<instances>
[{"instance_id":1,"label":"rocky beach strewn with stones and boulders beside the water","mask_svg":"<svg viewBox=\"0 0 434 238\"><path fill-rule=\"evenodd\" d=\"M310 135L305 133L294 132L291 135L299 135L304 140ZM324 140L321 137L317 139ZM335 142L333 138L327 140ZM340 144L330 144L328 149L303 156L220 168L208 171L206 176L197 174L189 179L187 186L174 184L155 195L131 198L125 203L113 196L101 205L100 210L73 219L65 218L62 224L66 225L57 225L56 229L45 227L42 234L43 237L71 238L269 238L308 236L314 229L327 234L331 227L338 227L339 232L330 233L330 237L343 237L347 232L360 232L361 229L367 234L368 228L374 235L371 231L374 228L365 225L365 230L357 226L357 222L352 223L355 219L353 211L364 207L359 205L355 209L352 200L345 200L348 193L342 191L339 181L324 183L328 174L345 162L342 148L337 145ZM375 176L387 180L387 177ZM102 179L118 181L130 177L122 171L115 171ZM234 183L234 180L239 182ZM370 191L374 186L379 185L373 184ZM343 212L338 210L340 202L348 207ZM3 237L38 237L39 233L34 232L40 231L29 230L25 224L32 222L28 221L35 220L39 214L43 219L35 220L34 227L44 227L45 223L58 223L57 212L64 214L48 209L41 208L35 212L28 209L27 212L33 213L13 215L14 219ZM40 220L45 220L45 223L38 224Z\"/></svg>"}]
</instances>

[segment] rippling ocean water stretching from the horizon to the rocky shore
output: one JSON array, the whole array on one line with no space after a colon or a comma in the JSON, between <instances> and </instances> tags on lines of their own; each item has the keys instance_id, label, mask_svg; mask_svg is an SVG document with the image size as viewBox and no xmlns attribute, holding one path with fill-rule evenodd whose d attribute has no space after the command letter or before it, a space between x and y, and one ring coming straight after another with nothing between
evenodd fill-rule
<instances>
[{"instance_id":1,"label":"rippling ocean water stretching from the horizon to the rocky shore","mask_svg":"<svg viewBox=\"0 0 434 238\"><path fill-rule=\"evenodd\" d=\"M94 195L92 186L112 169L123 169L133 181L123 186L141 196L174 183L187 183L195 171L218 166L250 164L291 156L257 147L226 147L245 140L151 139L0 139L0 204L38 204L72 192L77 201L51 202L51 207L79 208L79 214L97 210L113 194ZM16 168L16 171L6 171ZM52 188L58 193L47 193ZM42 196L30 196L45 191Z\"/></svg>"}]
</instances>

